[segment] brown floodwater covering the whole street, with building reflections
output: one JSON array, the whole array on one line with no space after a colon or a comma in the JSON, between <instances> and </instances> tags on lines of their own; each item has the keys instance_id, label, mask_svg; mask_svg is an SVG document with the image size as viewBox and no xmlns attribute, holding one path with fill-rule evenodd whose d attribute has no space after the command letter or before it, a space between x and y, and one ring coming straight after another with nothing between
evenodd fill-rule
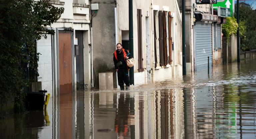
<instances>
[{"instance_id":1,"label":"brown floodwater covering the whole street, with building reflections","mask_svg":"<svg viewBox=\"0 0 256 139\"><path fill-rule=\"evenodd\" d=\"M50 98L0 120L1 139L256 138L256 60L135 86Z\"/></svg>"}]
</instances>

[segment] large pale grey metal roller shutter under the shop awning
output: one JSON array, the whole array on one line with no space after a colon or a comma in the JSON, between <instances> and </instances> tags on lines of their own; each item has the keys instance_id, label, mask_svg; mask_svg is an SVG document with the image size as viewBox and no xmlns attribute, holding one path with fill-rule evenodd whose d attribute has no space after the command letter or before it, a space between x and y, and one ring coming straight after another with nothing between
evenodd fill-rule
<instances>
[{"instance_id":1,"label":"large pale grey metal roller shutter under the shop awning","mask_svg":"<svg viewBox=\"0 0 256 139\"><path fill-rule=\"evenodd\" d=\"M196 22L195 24L195 67L196 71L207 69L208 57L212 68L212 26Z\"/></svg>"}]
</instances>

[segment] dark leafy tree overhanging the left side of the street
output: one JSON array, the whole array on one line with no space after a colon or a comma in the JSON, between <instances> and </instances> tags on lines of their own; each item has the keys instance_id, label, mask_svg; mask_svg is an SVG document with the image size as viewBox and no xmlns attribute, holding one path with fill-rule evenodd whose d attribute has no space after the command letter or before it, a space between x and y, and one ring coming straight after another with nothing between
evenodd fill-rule
<instances>
[{"instance_id":1,"label":"dark leafy tree overhanging the left side of the street","mask_svg":"<svg viewBox=\"0 0 256 139\"><path fill-rule=\"evenodd\" d=\"M14 97L16 112L25 110L25 91L37 81L36 40L43 32L54 34L45 27L56 22L63 11L48 0L0 1L0 100Z\"/></svg>"}]
</instances>

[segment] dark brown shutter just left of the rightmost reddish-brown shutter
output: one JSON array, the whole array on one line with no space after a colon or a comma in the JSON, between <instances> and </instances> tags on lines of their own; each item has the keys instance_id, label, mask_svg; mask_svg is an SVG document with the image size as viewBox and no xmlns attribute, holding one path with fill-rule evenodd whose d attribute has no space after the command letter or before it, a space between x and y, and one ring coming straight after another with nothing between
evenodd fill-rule
<instances>
[{"instance_id":1,"label":"dark brown shutter just left of the rightmost reddish-brown shutter","mask_svg":"<svg viewBox=\"0 0 256 139\"><path fill-rule=\"evenodd\" d=\"M168 63L167 59L167 33L166 33L166 14L165 11L163 11L163 49L164 49L164 65L166 66Z\"/></svg>"}]
</instances>

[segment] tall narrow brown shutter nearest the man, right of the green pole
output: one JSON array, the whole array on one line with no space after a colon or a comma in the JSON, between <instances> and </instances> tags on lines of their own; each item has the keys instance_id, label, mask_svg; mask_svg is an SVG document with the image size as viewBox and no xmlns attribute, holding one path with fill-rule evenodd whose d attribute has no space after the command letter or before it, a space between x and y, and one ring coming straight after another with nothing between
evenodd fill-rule
<instances>
[{"instance_id":1,"label":"tall narrow brown shutter nearest the man, right of the green pole","mask_svg":"<svg viewBox=\"0 0 256 139\"><path fill-rule=\"evenodd\" d=\"M137 9L137 27L138 27L138 66L139 72L144 71L143 69L143 55L142 55L142 25L141 25L141 9Z\"/></svg>"}]
</instances>

